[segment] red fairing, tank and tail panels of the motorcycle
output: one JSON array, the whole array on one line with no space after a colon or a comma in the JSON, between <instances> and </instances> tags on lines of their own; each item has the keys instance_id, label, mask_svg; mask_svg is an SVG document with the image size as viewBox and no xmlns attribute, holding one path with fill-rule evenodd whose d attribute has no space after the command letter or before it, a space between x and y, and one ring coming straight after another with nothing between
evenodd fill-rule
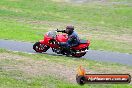
<instances>
[{"instance_id":1,"label":"red fairing, tank and tail panels of the motorcycle","mask_svg":"<svg viewBox=\"0 0 132 88\"><path fill-rule=\"evenodd\" d=\"M51 44L49 41L52 40L53 38L52 37L49 37L46 35L44 35L44 40L40 40L39 42L41 44L45 44L51 48L58 48L59 46L57 44ZM58 34L55 38L55 40L57 42L66 42L68 39L68 36L67 34ZM79 44L78 46L75 46L75 47L72 47L74 50L81 50L81 49L84 49L84 48L87 48L88 46L90 45L90 41L87 40L87 43L85 44Z\"/></svg>"}]
</instances>

